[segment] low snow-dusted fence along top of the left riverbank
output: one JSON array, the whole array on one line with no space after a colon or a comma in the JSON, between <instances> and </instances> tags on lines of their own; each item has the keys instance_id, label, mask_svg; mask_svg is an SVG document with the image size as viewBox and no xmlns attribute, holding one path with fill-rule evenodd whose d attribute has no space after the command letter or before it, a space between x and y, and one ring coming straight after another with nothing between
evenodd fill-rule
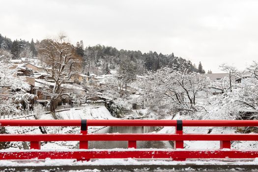
<instances>
[{"instance_id":1,"label":"low snow-dusted fence along top of the left riverbank","mask_svg":"<svg viewBox=\"0 0 258 172\"><path fill-rule=\"evenodd\" d=\"M102 107L105 106L104 103L91 103L91 104L83 104L83 105L61 105L57 106L56 112L68 111L72 108L75 109L83 109L83 108L94 108L94 107ZM44 113L50 113L50 107L44 107ZM35 115L32 110L21 110L20 112L0 112L0 119L15 119L18 117L28 117Z\"/></svg>"}]
</instances>

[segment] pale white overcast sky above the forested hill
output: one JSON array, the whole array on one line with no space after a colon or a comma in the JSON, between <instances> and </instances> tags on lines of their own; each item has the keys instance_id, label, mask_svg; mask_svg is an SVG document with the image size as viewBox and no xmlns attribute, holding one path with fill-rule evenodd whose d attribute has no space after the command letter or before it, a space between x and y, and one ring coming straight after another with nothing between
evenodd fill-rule
<instances>
[{"instance_id":1,"label":"pale white overcast sky above the forested hill","mask_svg":"<svg viewBox=\"0 0 258 172\"><path fill-rule=\"evenodd\" d=\"M0 0L0 33L156 51L220 72L258 60L258 0Z\"/></svg>"}]
</instances>

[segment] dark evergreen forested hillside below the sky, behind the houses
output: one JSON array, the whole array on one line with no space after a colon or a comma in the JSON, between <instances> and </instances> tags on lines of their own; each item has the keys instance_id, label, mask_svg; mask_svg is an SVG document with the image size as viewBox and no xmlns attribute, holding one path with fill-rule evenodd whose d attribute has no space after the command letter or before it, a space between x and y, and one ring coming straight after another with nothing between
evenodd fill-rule
<instances>
[{"instance_id":1,"label":"dark evergreen forested hillside below the sky, behind the houses","mask_svg":"<svg viewBox=\"0 0 258 172\"><path fill-rule=\"evenodd\" d=\"M12 59L18 59L22 57L32 58L39 57L38 47L41 41L33 39L31 41L26 40L14 40L12 41L8 37L0 34L0 49L1 54L5 50L11 56ZM182 57L176 57L174 54L163 55L157 52L149 51L148 53L142 53L141 51L130 50L117 50L115 47L96 45L84 47L83 41L77 42L75 45L76 52L84 59L82 73L87 74L94 73L101 75L107 72L109 69L118 69L121 64L128 63L130 61L132 65L137 67L137 73L142 74L145 71L157 71L162 67L173 67L179 70L181 64L187 64L189 72L205 73L202 66L197 68L191 61ZM6 56L5 56L6 57Z\"/></svg>"}]
</instances>

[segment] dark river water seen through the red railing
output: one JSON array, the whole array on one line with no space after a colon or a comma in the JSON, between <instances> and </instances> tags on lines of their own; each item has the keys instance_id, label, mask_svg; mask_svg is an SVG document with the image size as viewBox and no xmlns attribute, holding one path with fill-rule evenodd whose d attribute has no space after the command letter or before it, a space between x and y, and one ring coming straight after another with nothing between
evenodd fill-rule
<instances>
[{"instance_id":1,"label":"dark river water seen through the red railing","mask_svg":"<svg viewBox=\"0 0 258 172\"><path fill-rule=\"evenodd\" d=\"M151 133L155 127L105 127L96 133ZM92 141L88 143L89 149L92 148L127 148L128 142L126 141ZM168 141L137 141L137 148L172 148Z\"/></svg>"}]
</instances>

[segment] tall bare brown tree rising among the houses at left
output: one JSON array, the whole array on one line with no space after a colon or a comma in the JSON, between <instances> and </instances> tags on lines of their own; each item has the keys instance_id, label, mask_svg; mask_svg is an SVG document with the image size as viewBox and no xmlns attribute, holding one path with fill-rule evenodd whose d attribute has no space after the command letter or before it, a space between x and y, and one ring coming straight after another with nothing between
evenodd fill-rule
<instances>
[{"instance_id":1,"label":"tall bare brown tree rising among the houses at left","mask_svg":"<svg viewBox=\"0 0 258 172\"><path fill-rule=\"evenodd\" d=\"M50 109L54 115L58 100L64 96L69 96L69 92L65 91L63 84L78 72L80 60L78 60L71 44L51 39L41 42L40 54L49 66L45 71L54 80L54 86L46 86L46 89L43 90L45 94L51 96Z\"/></svg>"}]
</instances>

